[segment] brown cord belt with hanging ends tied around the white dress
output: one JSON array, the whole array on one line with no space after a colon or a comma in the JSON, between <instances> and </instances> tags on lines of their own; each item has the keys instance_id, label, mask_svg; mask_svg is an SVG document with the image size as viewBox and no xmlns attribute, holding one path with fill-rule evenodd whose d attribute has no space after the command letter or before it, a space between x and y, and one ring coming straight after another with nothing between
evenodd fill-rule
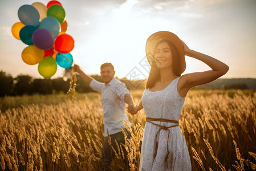
<instances>
[{"instance_id":1,"label":"brown cord belt with hanging ends tied around the white dress","mask_svg":"<svg viewBox=\"0 0 256 171\"><path fill-rule=\"evenodd\" d=\"M148 123L151 123L153 125L156 125L159 127L159 131L157 131L156 133L156 137L155 137L155 143L156 143L156 146L155 146L155 153L153 154L153 157L156 158L156 153L157 153L157 146L159 144L159 142L157 142L157 135L159 134L159 132L161 131L161 129L164 129L164 130L168 130L168 139L167 139L167 144L166 144L166 149L167 149L167 154L165 156L165 159L164 159L164 170L166 168L168 168L168 156L169 156L169 149L168 149L168 144L169 144L169 136L170 136L170 129L169 128L172 128L172 127L178 127L178 120L170 120L170 119L164 119L164 118L152 118L152 117L146 117L146 121ZM166 127L165 125L160 125L160 124L156 124L156 123L153 123L152 121L161 121L161 122L166 122L166 123L174 123L174 124L177 124L177 125L172 125L170 127ZM170 155L170 170L172 170L172 161L173 161L173 153L171 153Z\"/></svg>"}]
</instances>

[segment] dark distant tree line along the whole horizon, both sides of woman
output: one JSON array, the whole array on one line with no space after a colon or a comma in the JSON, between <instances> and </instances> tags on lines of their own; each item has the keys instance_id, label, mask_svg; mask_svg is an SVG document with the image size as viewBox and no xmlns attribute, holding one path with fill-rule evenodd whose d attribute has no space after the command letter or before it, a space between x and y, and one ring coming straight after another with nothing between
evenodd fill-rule
<instances>
[{"instance_id":1,"label":"dark distant tree line along the whole horizon, both sides of woman","mask_svg":"<svg viewBox=\"0 0 256 171\"><path fill-rule=\"evenodd\" d=\"M18 75L13 78L10 74L0 71L0 97L3 96L22 96L22 95L47 95L51 93L66 93L70 87L72 72L63 74L63 78L38 79L29 75ZM95 80L102 82L100 75L91 75ZM77 75L77 92L92 92L83 79ZM117 77L116 77L117 78ZM119 79L119 78L117 78ZM144 80L119 79L130 91L144 89ZM194 89L256 89L256 79L217 79L208 84L197 86Z\"/></svg>"}]
</instances>

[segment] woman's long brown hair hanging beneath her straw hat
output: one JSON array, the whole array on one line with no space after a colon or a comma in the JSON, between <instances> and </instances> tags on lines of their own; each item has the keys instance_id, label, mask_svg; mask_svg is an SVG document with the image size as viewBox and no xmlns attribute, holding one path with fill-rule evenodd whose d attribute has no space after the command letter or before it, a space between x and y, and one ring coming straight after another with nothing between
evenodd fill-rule
<instances>
[{"instance_id":1,"label":"woman's long brown hair hanging beneath her straw hat","mask_svg":"<svg viewBox=\"0 0 256 171\"><path fill-rule=\"evenodd\" d=\"M164 42L168 43L168 45L170 47L170 52L172 53L172 70L175 75L181 76L180 58L178 57L177 48L174 46L174 44L172 42L170 42L169 40L165 40L165 39L161 40L159 43L156 44L155 49L153 51L153 56L155 56L156 47L160 43L164 43ZM153 61L155 61L155 60L153 60ZM153 62L152 66L151 66L151 70L149 71L149 75L148 75L147 83L145 84L145 88L154 87L157 80L160 79L160 76L161 76L160 69L156 66L156 63Z\"/></svg>"}]
</instances>

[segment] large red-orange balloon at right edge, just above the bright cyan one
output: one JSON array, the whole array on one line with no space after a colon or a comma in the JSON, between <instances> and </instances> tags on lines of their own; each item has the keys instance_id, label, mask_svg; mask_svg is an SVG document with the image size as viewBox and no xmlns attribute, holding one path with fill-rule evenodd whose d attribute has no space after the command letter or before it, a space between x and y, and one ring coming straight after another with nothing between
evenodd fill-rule
<instances>
[{"instance_id":1,"label":"large red-orange balloon at right edge, just above the bright cyan one","mask_svg":"<svg viewBox=\"0 0 256 171\"><path fill-rule=\"evenodd\" d=\"M57 51L67 54L74 48L75 41L70 35L62 34L56 38L54 45Z\"/></svg>"}]
</instances>

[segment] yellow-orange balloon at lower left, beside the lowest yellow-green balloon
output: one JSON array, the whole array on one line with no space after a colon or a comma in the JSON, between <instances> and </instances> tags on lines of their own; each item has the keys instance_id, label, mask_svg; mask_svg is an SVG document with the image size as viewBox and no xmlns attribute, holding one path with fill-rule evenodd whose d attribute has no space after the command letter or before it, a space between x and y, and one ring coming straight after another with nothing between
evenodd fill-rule
<instances>
[{"instance_id":1,"label":"yellow-orange balloon at lower left, beside the lowest yellow-green balloon","mask_svg":"<svg viewBox=\"0 0 256 171\"><path fill-rule=\"evenodd\" d=\"M40 50L35 45L30 45L22 51L21 57L26 64L34 65L43 59L43 55L43 50Z\"/></svg>"}]
</instances>

